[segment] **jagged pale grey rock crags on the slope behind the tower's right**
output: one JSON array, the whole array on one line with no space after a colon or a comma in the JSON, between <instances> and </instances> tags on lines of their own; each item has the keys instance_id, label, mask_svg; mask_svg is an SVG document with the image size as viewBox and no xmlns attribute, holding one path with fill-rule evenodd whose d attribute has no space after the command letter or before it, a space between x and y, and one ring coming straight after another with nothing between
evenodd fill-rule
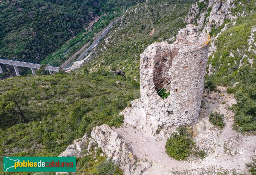
<instances>
[{"instance_id":1,"label":"jagged pale grey rock crags on the slope behind the tower's right","mask_svg":"<svg viewBox=\"0 0 256 175\"><path fill-rule=\"evenodd\" d=\"M244 2L243 3L242 2L243 1L234 1L234 0L227 0L227 1L199 0L199 2L192 4L187 17L185 18L185 22L187 22L187 24L198 24L199 30L201 30L202 32L211 34L211 39L210 39L211 44L209 47L209 54L208 54L209 56L208 75L209 76L212 76L214 72L218 71L218 69L221 69L221 66L223 65L223 64L220 64L216 67L214 66L214 63L212 64L213 60L221 58L221 57L214 58L216 57L215 52L217 51L216 43L219 37L221 36L221 33L226 31L228 28L235 26L236 19L238 17L246 16L252 12L251 11L248 13L248 11L246 11L246 8L247 8L246 6L248 5L247 2L245 2L245 4L243 4ZM201 4L201 7L199 7L200 6L199 4ZM218 31L217 34L216 34L216 31L212 31L214 29ZM227 44L228 43L229 43L229 40L227 40ZM250 44L250 42L248 44ZM251 51L251 49L248 48L247 51ZM233 53L234 52L236 51L233 51ZM241 49L240 50L237 49L237 52L240 52L238 54L239 56L242 55L241 60L240 61L234 60L234 63L238 65L238 67L240 68L243 65L242 63L243 59L247 57L247 55L243 54ZM232 58L234 58L233 53L230 54L230 57ZM253 59L248 58L245 62L247 61L252 66ZM230 63L227 63L227 64L229 67ZM229 68L229 69L232 70L233 68Z\"/></svg>"}]
</instances>

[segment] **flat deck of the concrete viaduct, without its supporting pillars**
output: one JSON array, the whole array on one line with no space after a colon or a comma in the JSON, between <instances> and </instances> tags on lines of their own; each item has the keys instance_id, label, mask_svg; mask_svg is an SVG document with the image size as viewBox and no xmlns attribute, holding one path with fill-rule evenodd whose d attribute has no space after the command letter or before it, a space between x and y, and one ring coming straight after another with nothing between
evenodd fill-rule
<instances>
[{"instance_id":1,"label":"flat deck of the concrete viaduct, without its supporting pillars","mask_svg":"<svg viewBox=\"0 0 256 175\"><path fill-rule=\"evenodd\" d=\"M22 61L14 61L14 60L6 60L6 59L0 59L0 64L9 64L9 65L13 65L13 66L21 66L21 67L35 68L35 69L39 69L41 66L41 64L22 62ZM47 66L46 70L59 72L59 67Z\"/></svg>"}]
</instances>

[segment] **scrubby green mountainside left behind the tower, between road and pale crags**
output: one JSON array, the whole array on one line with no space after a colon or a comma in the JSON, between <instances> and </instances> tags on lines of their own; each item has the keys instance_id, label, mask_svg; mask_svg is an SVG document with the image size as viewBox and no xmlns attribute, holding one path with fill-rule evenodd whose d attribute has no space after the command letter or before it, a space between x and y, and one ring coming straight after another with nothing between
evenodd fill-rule
<instances>
[{"instance_id":1,"label":"scrubby green mountainside left behind the tower, between road and pale crags","mask_svg":"<svg viewBox=\"0 0 256 175\"><path fill-rule=\"evenodd\" d=\"M155 41L175 41L193 1L148 1L130 7L93 52L89 69L125 68L126 75L139 75L140 54Z\"/></svg>"}]
</instances>

